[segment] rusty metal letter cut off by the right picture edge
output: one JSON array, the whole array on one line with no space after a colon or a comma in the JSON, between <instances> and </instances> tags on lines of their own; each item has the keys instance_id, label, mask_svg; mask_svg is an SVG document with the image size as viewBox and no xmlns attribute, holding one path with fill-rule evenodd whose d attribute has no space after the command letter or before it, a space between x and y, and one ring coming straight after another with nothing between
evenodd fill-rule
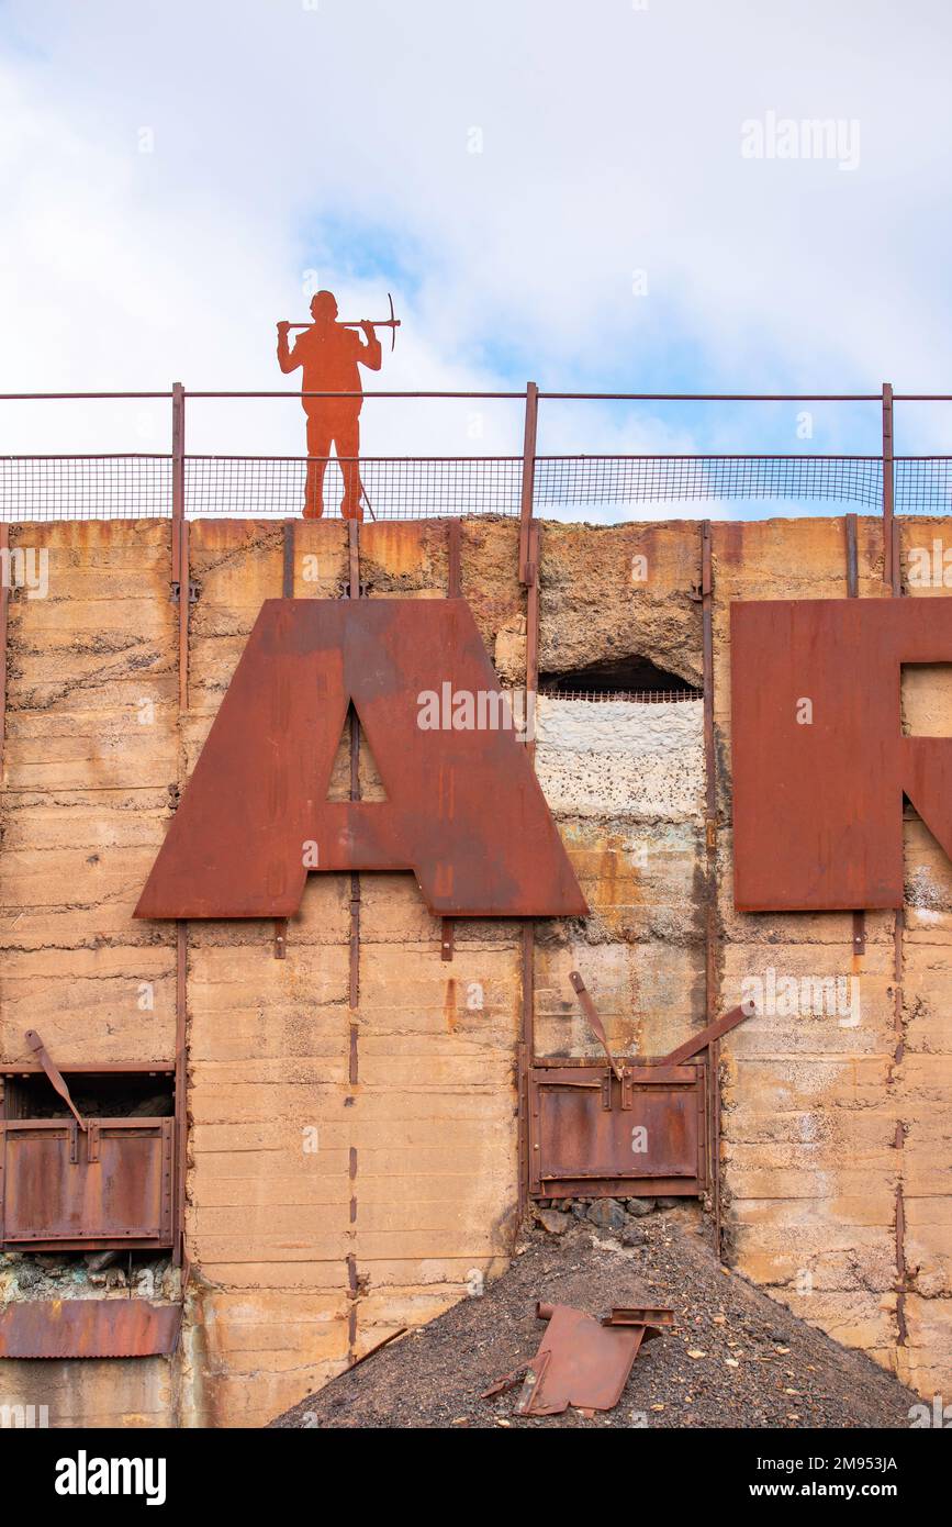
<instances>
[{"instance_id":1,"label":"rusty metal letter cut off by the right picture edge","mask_svg":"<svg viewBox=\"0 0 952 1527\"><path fill-rule=\"evenodd\" d=\"M902 734L903 663L952 663L952 600L731 605L738 910L900 907L903 791L952 852L952 741Z\"/></svg>"}]
</instances>

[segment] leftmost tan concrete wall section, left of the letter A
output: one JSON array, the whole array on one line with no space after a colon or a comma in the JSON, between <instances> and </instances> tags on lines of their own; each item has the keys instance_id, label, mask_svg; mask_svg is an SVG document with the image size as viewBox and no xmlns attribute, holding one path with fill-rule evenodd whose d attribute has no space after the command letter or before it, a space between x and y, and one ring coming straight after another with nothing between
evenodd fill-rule
<instances>
[{"instance_id":1,"label":"leftmost tan concrete wall section, left of the letter A","mask_svg":"<svg viewBox=\"0 0 952 1527\"><path fill-rule=\"evenodd\" d=\"M11 527L11 544L49 553L49 592L9 606L0 1055L32 1058L35 1028L63 1063L171 1061L174 947L131 916L178 773L169 527ZM0 1261L0 1298L34 1287ZM0 1399L53 1426L177 1416L162 1359L3 1362Z\"/></svg>"}]
</instances>

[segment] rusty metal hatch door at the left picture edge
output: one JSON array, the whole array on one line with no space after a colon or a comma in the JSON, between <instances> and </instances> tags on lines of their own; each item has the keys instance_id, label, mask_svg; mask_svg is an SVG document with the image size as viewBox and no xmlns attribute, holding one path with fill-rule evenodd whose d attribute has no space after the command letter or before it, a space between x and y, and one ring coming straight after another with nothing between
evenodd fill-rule
<instances>
[{"instance_id":1,"label":"rusty metal hatch door at the left picture edge","mask_svg":"<svg viewBox=\"0 0 952 1527\"><path fill-rule=\"evenodd\" d=\"M76 1251L172 1245L174 1119L2 1125L2 1241Z\"/></svg>"}]
</instances>

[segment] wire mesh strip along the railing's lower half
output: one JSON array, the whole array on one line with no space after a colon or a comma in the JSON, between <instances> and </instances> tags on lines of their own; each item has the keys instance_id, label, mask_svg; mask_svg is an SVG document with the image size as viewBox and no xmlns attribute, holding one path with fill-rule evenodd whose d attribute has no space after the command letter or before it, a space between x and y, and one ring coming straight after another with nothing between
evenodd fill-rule
<instances>
[{"instance_id":1,"label":"wire mesh strip along the railing's lower half","mask_svg":"<svg viewBox=\"0 0 952 1527\"><path fill-rule=\"evenodd\" d=\"M325 470L323 470L325 469ZM314 463L311 463L314 470ZM340 515L343 475L319 464L323 513ZM304 512L307 457L185 457L188 518L285 519ZM522 457L363 457L365 515L430 519L519 516ZM532 508L697 501L842 502L882 510L880 457L537 457ZM952 457L897 457L896 513L952 513ZM0 458L0 521L143 519L172 515L171 455Z\"/></svg>"}]
</instances>

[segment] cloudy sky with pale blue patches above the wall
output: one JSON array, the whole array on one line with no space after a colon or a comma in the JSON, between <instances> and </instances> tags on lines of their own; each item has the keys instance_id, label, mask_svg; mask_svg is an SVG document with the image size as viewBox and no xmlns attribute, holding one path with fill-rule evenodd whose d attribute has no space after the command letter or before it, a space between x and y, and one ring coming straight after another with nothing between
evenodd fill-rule
<instances>
[{"instance_id":1,"label":"cloudy sky with pale blue patches above the wall","mask_svg":"<svg viewBox=\"0 0 952 1527\"><path fill-rule=\"evenodd\" d=\"M952 391L950 41L946 0L0 0L0 391L284 389L319 286L394 296L368 386ZM0 403L0 455L168 431ZM374 455L520 444L363 411ZM301 454L299 405L192 400L188 447ZM879 408L543 403L539 449L876 452Z\"/></svg>"}]
</instances>

